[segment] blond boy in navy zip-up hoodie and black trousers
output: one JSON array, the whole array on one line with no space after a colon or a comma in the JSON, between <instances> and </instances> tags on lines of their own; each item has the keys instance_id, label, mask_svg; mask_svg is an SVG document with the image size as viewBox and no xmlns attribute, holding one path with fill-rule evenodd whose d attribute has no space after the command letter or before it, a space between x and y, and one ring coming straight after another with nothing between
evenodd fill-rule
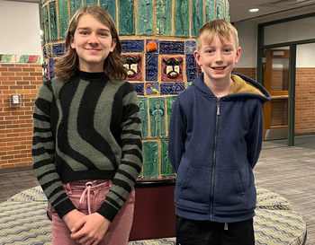
<instances>
[{"instance_id":1,"label":"blond boy in navy zip-up hoodie and black trousers","mask_svg":"<svg viewBox=\"0 0 315 245\"><path fill-rule=\"evenodd\" d=\"M254 245L253 169L270 94L231 74L241 48L229 22L203 25L194 57L203 73L173 105L168 154L175 185L177 245Z\"/></svg>"}]
</instances>

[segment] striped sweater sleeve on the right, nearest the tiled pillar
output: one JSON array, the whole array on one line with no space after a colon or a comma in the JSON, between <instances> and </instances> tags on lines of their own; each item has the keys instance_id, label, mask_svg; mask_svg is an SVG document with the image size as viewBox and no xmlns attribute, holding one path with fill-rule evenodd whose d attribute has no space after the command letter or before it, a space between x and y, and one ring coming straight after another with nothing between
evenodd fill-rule
<instances>
[{"instance_id":1,"label":"striped sweater sleeve on the right, nearest the tiled pillar","mask_svg":"<svg viewBox=\"0 0 315 245\"><path fill-rule=\"evenodd\" d=\"M138 94L129 84L130 92L122 99L123 117L121 122L121 162L118 166L112 187L103 205L97 210L112 222L114 216L121 209L142 168L141 119L139 115Z\"/></svg>"}]
</instances>

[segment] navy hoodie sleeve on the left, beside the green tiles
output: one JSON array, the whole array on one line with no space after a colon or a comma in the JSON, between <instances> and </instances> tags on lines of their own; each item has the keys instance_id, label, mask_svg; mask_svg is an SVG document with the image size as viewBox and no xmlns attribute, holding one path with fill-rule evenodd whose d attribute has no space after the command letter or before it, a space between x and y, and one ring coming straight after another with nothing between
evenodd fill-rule
<instances>
[{"instance_id":1,"label":"navy hoodie sleeve on the left, beside the green tiles","mask_svg":"<svg viewBox=\"0 0 315 245\"><path fill-rule=\"evenodd\" d=\"M177 97L173 104L168 130L168 158L176 173L185 151L185 139L184 112Z\"/></svg>"}]
</instances>

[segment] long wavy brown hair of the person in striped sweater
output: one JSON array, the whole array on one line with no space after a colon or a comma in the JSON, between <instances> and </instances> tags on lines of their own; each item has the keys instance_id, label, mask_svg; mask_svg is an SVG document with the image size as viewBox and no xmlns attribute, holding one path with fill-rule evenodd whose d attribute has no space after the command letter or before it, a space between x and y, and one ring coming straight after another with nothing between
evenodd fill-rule
<instances>
[{"instance_id":1,"label":"long wavy brown hair of the person in striped sweater","mask_svg":"<svg viewBox=\"0 0 315 245\"><path fill-rule=\"evenodd\" d=\"M112 16L100 6L89 5L78 9L75 15L69 22L66 33L66 54L61 57L54 65L55 75L67 83L70 77L76 73L79 67L79 59L76 54L76 49L70 47L70 40L74 37L79 19L84 14L91 14L97 21L107 26L112 34L112 39L116 39L116 47L106 57L103 64L103 71L108 75L112 83L118 80L126 79L127 71L123 66L123 59L121 58L121 40L118 37L118 32Z\"/></svg>"}]
</instances>

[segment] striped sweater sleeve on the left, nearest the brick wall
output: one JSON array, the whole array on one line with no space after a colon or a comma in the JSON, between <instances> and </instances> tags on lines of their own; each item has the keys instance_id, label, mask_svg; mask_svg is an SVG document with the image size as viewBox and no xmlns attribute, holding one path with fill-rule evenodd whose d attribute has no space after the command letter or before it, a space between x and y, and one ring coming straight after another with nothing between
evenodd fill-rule
<instances>
[{"instance_id":1,"label":"striped sweater sleeve on the left, nearest the brick wall","mask_svg":"<svg viewBox=\"0 0 315 245\"><path fill-rule=\"evenodd\" d=\"M75 209L62 187L55 166L55 140L50 122L50 109L53 92L49 83L40 85L33 111L32 163L33 171L40 182L51 206L63 203L62 210L57 210L60 218Z\"/></svg>"}]
</instances>

